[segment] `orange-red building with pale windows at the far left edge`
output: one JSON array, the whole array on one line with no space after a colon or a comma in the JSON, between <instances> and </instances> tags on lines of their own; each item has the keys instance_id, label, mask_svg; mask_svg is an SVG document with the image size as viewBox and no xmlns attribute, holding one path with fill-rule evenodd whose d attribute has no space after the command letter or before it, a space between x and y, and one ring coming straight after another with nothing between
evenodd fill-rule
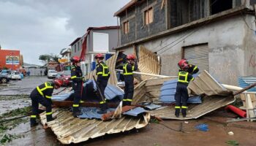
<instances>
[{"instance_id":1,"label":"orange-red building with pale windows at the far left edge","mask_svg":"<svg viewBox=\"0 0 256 146\"><path fill-rule=\"evenodd\" d=\"M12 55L14 59L12 61ZM9 57L8 57L9 56ZM13 70L20 69L20 64L16 61L16 58L20 58L20 50L0 50L0 69L3 69L4 66ZM12 65L13 63L13 65Z\"/></svg>"}]
</instances>

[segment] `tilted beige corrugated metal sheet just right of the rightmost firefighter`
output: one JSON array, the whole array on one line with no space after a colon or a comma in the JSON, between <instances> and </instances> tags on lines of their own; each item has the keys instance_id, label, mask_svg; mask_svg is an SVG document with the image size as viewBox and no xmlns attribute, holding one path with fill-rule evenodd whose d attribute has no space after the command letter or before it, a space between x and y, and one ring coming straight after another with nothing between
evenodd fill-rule
<instances>
[{"instance_id":1,"label":"tilted beige corrugated metal sheet just right of the rightmost firefighter","mask_svg":"<svg viewBox=\"0 0 256 146\"><path fill-rule=\"evenodd\" d=\"M207 96L219 95L227 96L230 95L230 91L227 91L222 85L211 77L206 70L204 70L195 80L189 82L188 88L193 91L196 95L206 94Z\"/></svg>"}]
</instances>

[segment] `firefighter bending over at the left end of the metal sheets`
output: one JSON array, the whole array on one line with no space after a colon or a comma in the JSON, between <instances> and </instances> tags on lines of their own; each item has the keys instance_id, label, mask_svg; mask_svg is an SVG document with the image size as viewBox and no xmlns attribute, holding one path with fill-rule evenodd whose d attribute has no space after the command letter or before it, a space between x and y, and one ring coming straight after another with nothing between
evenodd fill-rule
<instances>
[{"instance_id":1,"label":"firefighter bending over at the left end of the metal sheets","mask_svg":"<svg viewBox=\"0 0 256 146\"><path fill-rule=\"evenodd\" d=\"M30 98L32 101L32 115L30 118L30 126L37 126L37 115L39 114L38 112L38 107L39 104L42 104L43 106L46 107L46 119L47 122L50 122L51 120L54 120L51 112L51 96L53 94L53 89L58 89L62 85L61 80L53 80L50 82L45 82L42 85L37 86L31 94Z\"/></svg>"}]
</instances>

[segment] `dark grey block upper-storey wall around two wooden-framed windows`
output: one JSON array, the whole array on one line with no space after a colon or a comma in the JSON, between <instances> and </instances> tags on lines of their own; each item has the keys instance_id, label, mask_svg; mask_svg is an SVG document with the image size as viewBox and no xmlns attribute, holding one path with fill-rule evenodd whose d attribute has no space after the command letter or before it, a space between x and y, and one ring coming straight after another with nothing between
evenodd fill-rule
<instances>
[{"instance_id":1,"label":"dark grey block upper-storey wall around two wooden-framed windows","mask_svg":"<svg viewBox=\"0 0 256 146\"><path fill-rule=\"evenodd\" d=\"M144 1L136 7L131 7L127 10L127 15L124 13L120 16L121 24L121 45L127 42L132 42L136 39L141 39L152 34L157 34L160 31L167 29L165 20L165 7L161 9L162 0L148 0ZM144 12L150 7L154 10L153 22L144 25ZM124 21L129 20L129 33L124 34Z\"/></svg>"}]
</instances>

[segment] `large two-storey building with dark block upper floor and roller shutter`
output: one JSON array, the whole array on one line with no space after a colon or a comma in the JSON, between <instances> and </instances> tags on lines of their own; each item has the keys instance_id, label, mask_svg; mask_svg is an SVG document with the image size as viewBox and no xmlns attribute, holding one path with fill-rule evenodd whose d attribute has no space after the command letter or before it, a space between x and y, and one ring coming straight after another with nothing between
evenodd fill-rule
<instances>
[{"instance_id":1,"label":"large two-storey building with dark block upper floor and roller shutter","mask_svg":"<svg viewBox=\"0 0 256 146\"><path fill-rule=\"evenodd\" d=\"M256 74L255 5L249 0L132 0L114 16L121 45L134 53L146 47L161 59L163 75L176 75L187 58L220 82ZM145 56L146 57L146 56Z\"/></svg>"}]
</instances>

